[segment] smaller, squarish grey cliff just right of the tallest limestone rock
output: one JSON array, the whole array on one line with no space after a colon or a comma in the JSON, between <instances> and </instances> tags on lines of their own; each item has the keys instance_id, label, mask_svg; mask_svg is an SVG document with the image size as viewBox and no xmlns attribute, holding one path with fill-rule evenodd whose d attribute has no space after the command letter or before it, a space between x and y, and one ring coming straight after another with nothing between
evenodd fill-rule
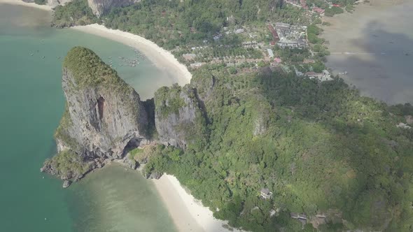
<instances>
[{"instance_id":1,"label":"smaller, squarish grey cliff just right of the tallest limestone rock","mask_svg":"<svg viewBox=\"0 0 413 232\"><path fill-rule=\"evenodd\" d=\"M195 89L186 85L162 87L155 93L155 126L160 142L186 149L202 136L204 115Z\"/></svg>"}]
</instances>

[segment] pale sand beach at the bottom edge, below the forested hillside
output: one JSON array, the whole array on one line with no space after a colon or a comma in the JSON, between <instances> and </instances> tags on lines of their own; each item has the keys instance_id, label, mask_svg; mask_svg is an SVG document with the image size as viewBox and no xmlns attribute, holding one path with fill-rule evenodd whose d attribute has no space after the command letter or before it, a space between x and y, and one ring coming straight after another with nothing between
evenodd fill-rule
<instances>
[{"instance_id":1,"label":"pale sand beach at the bottom edge, below the forested hillside","mask_svg":"<svg viewBox=\"0 0 413 232\"><path fill-rule=\"evenodd\" d=\"M188 194L176 177L164 174L159 180L152 181L179 231L229 231L223 227L228 222L214 218L211 210ZM232 231L241 232L237 229Z\"/></svg>"}]
</instances>

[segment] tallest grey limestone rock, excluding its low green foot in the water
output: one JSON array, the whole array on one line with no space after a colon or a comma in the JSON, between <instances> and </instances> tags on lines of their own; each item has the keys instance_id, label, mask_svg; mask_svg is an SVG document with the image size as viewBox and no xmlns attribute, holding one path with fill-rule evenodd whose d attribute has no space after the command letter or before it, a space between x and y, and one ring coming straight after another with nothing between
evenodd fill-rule
<instances>
[{"instance_id":1,"label":"tallest grey limestone rock, excluding its low green foot in the water","mask_svg":"<svg viewBox=\"0 0 413 232\"><path fill-rule=\"evenodd\" d=\"M92 56L92 59L102 62L91 50L85 48L73 48L66 59L79 52L84 52L82 55L85 59ZM76 57L76 61L83 58ZM66 128L66 135L77 144L76 147L71 146L71 149L90 157L122 157L128 143L137 146L145 140L148 119L139 94L103 62L99 64L99 68L107 70L102 73L73 73L76 72L73 71L74 68L83 67L70 64L71 62L65 60L67 65L63 68L62 78L71 120L71 126ZM76 78L75 75L79 76ZM111 76L108 78L104 75ZM104 78L108 80L105 81ZM82 86L84 81L86 85ZM106 85L105 82L113 83ZM69 145L62 138L57 138L57 143Z\"/></svg>"}]
</instances>

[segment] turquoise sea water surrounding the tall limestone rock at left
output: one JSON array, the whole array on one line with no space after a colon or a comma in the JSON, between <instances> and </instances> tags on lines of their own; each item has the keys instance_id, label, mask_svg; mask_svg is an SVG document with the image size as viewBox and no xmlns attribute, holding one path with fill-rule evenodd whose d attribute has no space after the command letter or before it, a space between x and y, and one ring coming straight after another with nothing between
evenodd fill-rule
<instances>
[{"instance_id":1,"label":"turquoise sea water surrounding the tall limestone rock at left","mask_svg":"<svg viewBox=\"0 0 413 232\"><path fill-rule=\"evenodd\" d=\"M61 62L75 45L112 57L119 75L146 99L174 80L147 59L119 66L134 50L71 29L48 27L50 14L0 5L0 231L176 231L151 182L113 164L69 189L39 172L55 154L64 109ZM60 58L59 58L60 57Z\"/></svg>"}]
</instances>

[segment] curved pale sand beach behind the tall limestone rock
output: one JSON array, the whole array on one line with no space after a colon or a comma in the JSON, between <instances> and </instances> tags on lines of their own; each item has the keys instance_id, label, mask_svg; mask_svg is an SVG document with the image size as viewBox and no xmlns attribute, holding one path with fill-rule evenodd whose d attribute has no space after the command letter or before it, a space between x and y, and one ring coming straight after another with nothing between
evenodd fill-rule
<instances>
[{"instance_id":1,"label":"curved pale sand beach behind the tall limestone rock","mask_svg":"<svg viewBox=\"0 0 413 232\"><path fill-rule=\"evenodd\" d=\"M144 37L125 31L108 29L99 24L76 26L72 28L88 34L109 38L112 41L117 41L119 43L129 45L132 48L136 48L140 52L144 53L144 55L148 57L148 59L152 61L155 66L160 68L161 71L165 71L169 75L172 75L174 80L178 82L179 85L188 84L192 78L192 74L188 71L188 68L179 63L171 52L160 48L158 45Z\"/></svg>"}]
</instances>

